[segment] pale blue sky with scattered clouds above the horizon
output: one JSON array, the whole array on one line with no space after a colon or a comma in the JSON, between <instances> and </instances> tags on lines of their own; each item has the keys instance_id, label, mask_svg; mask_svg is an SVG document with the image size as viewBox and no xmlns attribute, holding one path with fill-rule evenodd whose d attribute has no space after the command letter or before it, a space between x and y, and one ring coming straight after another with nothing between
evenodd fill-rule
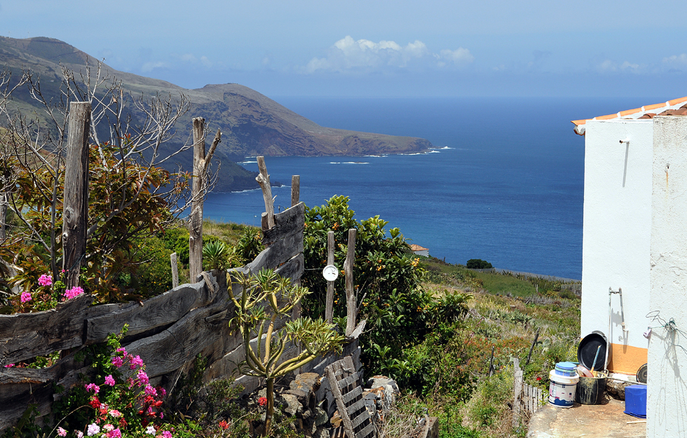
<instances>
[{"instance_id":1,"label":"pale blue sky with scattered clouds above the horizon","mask_svg":"<svg viewBox=\"0 0 687 438\"><path fill-rule=\"evenodd\" d=\"M0 0L0 35L269 97L687 95L684 0L64 3Z\"/></svg>"}]
</instances>

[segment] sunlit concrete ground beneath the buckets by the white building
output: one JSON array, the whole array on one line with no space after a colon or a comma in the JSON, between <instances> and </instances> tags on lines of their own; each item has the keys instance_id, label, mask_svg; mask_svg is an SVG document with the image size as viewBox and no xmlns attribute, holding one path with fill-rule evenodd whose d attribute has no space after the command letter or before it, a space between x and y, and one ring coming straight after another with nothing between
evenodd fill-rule
<instances>
[{"instance_id":1,"label":"sunlit concrete ground beneath the buckets by the white building","mask_svg":"<svg viewBox=\"0 0 687 438\"><path fill-rule=\"evenodd\" d=\"M574 404L562 409L542 406L529 422L527 438L646 438L646 423L623 413L625 402L608 399L604 404Z\"/></svg>"}]
</instances>

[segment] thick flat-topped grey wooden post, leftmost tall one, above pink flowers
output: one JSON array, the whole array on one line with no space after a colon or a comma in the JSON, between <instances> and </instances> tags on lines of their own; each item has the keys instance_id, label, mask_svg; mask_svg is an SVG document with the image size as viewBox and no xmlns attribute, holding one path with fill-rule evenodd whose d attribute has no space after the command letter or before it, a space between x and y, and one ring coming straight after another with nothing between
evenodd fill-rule
<instances>
[{"instance_id":1,"label":"thick flat-topped grey wooden post, leftmost tall one, above pink flowers","mask_svg":"<svg viewBox=\"0 0 687 438\"><path fill-rule=\"evenodd\" d=\"M81 260L86 254L89 129L90 102L71 102L62 211L62 269L67 289L79 285Z\"/></svg>"}]
</instances>

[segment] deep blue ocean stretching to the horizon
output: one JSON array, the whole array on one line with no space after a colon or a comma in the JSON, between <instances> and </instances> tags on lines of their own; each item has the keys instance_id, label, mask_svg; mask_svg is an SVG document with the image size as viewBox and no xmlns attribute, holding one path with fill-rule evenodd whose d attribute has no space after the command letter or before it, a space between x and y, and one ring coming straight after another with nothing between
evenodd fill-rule
<instances>
[{"instance_id":1,"label":"deep blue ocean stretching to the horizon","mask_svg":"<svg viewBox=\"0 0 687 438\"><path fill-rule=\"evenodd\" d=\"M350 198L355 217L378 215L432 256L455 264L582 278L584 137L571 120L655 98L283 97L285 107L332 128L428 139L430 153L267 157L276 210L301 200ZM254 158L241 163L257 171ZM210 193L205 217L259 226L261 191Z\"/></svg>"}]
</instances>

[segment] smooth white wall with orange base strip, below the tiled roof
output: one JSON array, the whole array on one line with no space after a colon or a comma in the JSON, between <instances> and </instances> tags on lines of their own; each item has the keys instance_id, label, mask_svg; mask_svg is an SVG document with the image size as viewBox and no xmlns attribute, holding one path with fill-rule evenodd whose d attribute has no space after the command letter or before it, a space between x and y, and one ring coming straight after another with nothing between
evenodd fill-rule
<instances>
[{"instance_id":1,"label":"smooth white wall with orange base strip, below the tiled roof","mask_svg":"<svg viewBox=\"0 0 687 438\"><path fill-rule=\"evenodd\" d=\"M651 120L588 121L585 134L585 201L581 335L598 330L613 343L612 369L635 373L646 361L651 247ZM620 144L620 140L630 139ZM608 336L608 288L613 295Z\"/></svg>"}]
</instances>

